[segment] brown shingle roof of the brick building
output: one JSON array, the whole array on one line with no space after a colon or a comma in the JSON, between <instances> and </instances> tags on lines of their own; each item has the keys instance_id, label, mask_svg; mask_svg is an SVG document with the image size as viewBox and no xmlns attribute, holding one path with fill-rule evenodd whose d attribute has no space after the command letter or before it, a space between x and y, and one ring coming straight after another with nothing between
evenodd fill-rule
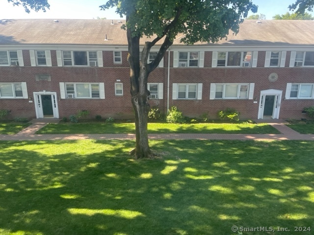
<instances>
[{"instance_id":1,"label":"brown shingle roof of the brick building","mask_svg":"<svg viewBox=\"0 0 314 235\"><path fill-rule=\"evenodd\" d=\"M124 21L121 21L124 22ZM314 45L314 21L245 20L239 33L215 45ZM117 20L51 19L0 20L2 44L127 45L126 31ZM107 41L105 41L107 35ZM174 45L180 43L178 35ZM142 43L145 40L142 39ZM212 45L197 43L198 45Z\"/></svg>"}]
</instances>

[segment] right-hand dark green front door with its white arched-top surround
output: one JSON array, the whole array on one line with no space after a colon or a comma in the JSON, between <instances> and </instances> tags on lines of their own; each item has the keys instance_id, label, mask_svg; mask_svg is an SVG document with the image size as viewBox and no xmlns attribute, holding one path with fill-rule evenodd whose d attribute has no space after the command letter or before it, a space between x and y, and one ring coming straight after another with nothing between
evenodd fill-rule
<instances>
[{"instance_id":1,"label":"right-hand dark green front door with its white arched-top surround","mask_svg":"<svg viewBox=\"0 0 314 235\"><path fill-rule=\"evenodd\" d=\"M283 91L261 91L258 119L278 119Z\"/></svg>"}]
</instances>

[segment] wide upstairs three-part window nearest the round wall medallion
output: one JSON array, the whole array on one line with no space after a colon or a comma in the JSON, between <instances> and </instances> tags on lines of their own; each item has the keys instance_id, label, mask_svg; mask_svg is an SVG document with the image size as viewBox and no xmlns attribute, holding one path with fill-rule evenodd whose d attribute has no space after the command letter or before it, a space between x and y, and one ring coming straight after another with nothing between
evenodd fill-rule
<instances>
[{"instance_id":1,"label":"wide upstairs three-part window nearest the round wall medallion","mask_svg":"<svg viewBox=\"0 0 314 235\"><path fill-rule=\"evenodd\" d=\"M227 51L218 52L218 67L251 67L252 51Z\"/></svg>"}]
</instances>

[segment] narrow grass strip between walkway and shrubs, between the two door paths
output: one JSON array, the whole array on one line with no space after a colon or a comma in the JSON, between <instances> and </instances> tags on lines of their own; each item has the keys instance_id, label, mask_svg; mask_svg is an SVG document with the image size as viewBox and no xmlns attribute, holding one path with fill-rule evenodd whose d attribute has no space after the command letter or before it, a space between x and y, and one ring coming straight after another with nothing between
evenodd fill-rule
<instances>
[{"instance_id":1,"label":"narrow grass strip between walkway and shrubs, between the two door paths","mask_svg":"<svg viewBox=\"0 0 314 235\"><path fill-rule=\"evenodd\" d=\"M62 123L49 124L36 134L118 134L135 133L134 123ZM208 133L208 134L279 134L266 123L148 123L149 133Z\"/></svg>"}]
</instances>

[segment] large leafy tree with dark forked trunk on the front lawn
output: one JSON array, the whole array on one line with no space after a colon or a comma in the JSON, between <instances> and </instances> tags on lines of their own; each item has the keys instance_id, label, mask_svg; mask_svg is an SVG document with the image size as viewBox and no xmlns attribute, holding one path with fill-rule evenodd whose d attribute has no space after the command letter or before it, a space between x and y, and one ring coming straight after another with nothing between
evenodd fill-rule
<instances>
[{"instance_id":1,"label":"large leafy tree with dark forked trunk on the front lawn","mask_svg":"<svg viewBox=\"0 0 314 235\"><path fill-rule=\"evenodd\" d=\"M40 5L49 7L47 0L9 0L14 4L25 2L37 10ZM36 4L35 4L36 2ZM229 30L238 32L239 24L248 11L257 12L251 0L108 0L100 6L105 10L116 7L121 17L126 16L131 80L131 103L135 113L135 158L151 158L147 134L150 110L147 81L167 49L178 34L187 45L196 42L216 42L228 35ZM140 52L140 39L147 41ZM155 60L147 63L152 47L159 45ZM141 60L140 60L141 53Z\"/></svg>"}]
</instances>

